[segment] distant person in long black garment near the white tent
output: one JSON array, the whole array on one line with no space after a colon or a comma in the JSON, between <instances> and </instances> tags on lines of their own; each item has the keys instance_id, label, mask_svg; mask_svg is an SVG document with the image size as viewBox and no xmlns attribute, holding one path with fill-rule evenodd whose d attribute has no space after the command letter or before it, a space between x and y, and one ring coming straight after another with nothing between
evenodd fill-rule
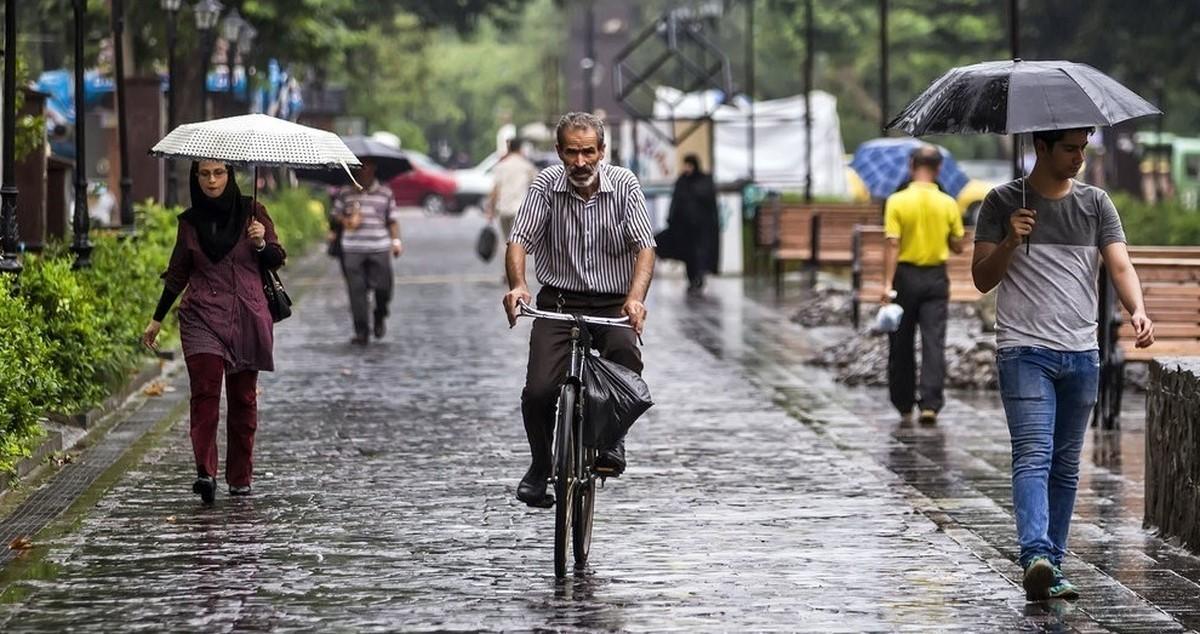
<instances>
[{"instance_id":1,"label":"distant person in long black garment near the white tent","mask_svg":"<svg viewBox=\"0 0 1200 634\"><path fill-rule=\"evenodd\" d=\"M713 177L700 169L700 157L695 154L683 160L683 174L671 195L667 227L677 245L676 253L686 267L688 293L700 294L704 275L716 273L720 220Z\"/></svg>"}]
</instances>

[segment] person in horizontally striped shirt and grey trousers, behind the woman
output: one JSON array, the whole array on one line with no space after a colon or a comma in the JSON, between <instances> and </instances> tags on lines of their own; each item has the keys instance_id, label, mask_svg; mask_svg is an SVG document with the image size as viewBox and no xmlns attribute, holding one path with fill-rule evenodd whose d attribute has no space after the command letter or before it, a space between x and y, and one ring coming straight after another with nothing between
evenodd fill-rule
<instances>
[{"instance_id":1,"label":"person in horizontally striped shirt and grey trousers, behind the woman","mask_svg":"<svg viewBox=\"0 0 1200 634\"><path fill-rule=\"evenodd\" d=\"M366 346L368 335L383 339L388 331L388 305L394 288L391 261L404 251L391 189L376 178L376 163L362 158L360 187L343 187L334 198L331 222L342 228L342 274L350 298L354 335L350 342ZM370 307L374 295L374 307ZM372 321L367 322L367 313ZM370 330L368 330L370 329Z\"/></svg>"}]
</instances>

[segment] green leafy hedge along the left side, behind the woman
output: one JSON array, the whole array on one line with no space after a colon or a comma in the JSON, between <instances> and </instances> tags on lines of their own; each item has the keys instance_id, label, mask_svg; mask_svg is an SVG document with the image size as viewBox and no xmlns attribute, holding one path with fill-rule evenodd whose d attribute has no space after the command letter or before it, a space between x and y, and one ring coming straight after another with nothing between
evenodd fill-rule
<instances>
[{"instance_id":1,"label":"green leafy hedge along the left side, behind the woman","mask_svg":"<svg viewBox=\"0 0 1200 634\"><path fill-rule=\"evenodd\" d=\"M292 257L325 233L319 196L306 189L263 197L280 241ZM0 277L0 472L11 472L43 436L50 412L86 411L128 381L149 351L142 330L162 292L158 275L175 241L179 209L137 208L128 239L94 232L89 269L72 270L73 255L52 245L25 256L18 279ZM175 319L161 341L178 341Z\"/></svg>"}]
</instances>

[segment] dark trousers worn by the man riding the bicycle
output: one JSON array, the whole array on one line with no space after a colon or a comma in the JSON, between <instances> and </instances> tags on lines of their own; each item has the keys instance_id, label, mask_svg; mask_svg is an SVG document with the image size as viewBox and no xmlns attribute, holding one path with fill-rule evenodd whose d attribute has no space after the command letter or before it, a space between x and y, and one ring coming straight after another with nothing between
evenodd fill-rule
<instances>
[{"instance_id":1,"label":"dark trousers worn by the man riding the bicycle","mask_svg":"<svg viewBox=\"0 0 1200 634\"><path fill-rule=\"evenodd\" d=\"M562 304L559 304L562 301ZM589 295L542 287L538 293L541 310L590 315L594 317L620 317L624 295ZM570 370L571 323L535 319L529 336L529 365L526 387L521 393L521 414L524 418L526 436L533 467L548 476L553 459L551 447L554 439L554 403L558 390ZM637 335L628 328L589 327L592 347L611 361L642 373L642 352L637 348Z\"/></svg>"}]
</instances>

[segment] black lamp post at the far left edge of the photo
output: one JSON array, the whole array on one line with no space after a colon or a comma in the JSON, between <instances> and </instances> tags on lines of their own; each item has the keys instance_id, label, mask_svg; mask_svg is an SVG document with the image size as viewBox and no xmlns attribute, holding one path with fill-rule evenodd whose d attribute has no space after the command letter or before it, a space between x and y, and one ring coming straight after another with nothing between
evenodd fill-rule
<instances>
[{"instance_id":1,"label":"black lamp post at the far left edge of the photo","mask_svg":"<svg viewBox=\"0 0 1200 634\"><path fill-rule=\"evenodd\" d=\"M0 186L0 271L20 273L17 252L17 184L13 180L17 133L17 0L5 0L4 12L4 185Z\"/></svg>"}]
</instances>

